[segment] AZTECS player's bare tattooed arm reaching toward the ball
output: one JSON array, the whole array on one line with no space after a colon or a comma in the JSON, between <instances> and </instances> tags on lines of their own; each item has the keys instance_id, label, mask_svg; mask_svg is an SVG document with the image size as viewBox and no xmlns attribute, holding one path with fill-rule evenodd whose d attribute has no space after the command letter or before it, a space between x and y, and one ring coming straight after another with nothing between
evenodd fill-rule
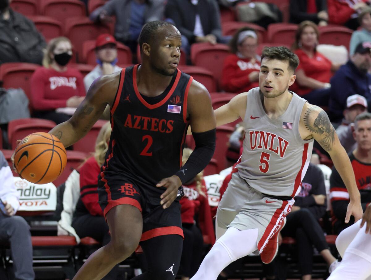
<instances>
[{"instance_id":1,"label":"AZTECS player's bare tattooed arm reaching toward the ball","mask_svg":"<svg viewBox=\"0 0 371 280\"><path fill-rule=\"evenodd\" d=\"M65 147L83 138L102 115L106 105L112 107L118 88L119 74L120 72L117 72L96 79L73 116L68 121L55 126L49 133L60 139Z\"/></svg>"}]
</instances>

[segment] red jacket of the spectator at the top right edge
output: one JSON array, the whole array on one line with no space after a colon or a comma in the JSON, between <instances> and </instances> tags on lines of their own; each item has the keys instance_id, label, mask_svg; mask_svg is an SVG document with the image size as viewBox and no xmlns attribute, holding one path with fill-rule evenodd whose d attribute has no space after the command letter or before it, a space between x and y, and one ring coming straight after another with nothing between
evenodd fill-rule
<instances>
[{"instance_id":1,"label":"red jacket of the spectator at the top right edge","mask_svg":"<svg viewBox=\"0 0 371 280\"><path fill-rule=\"evenodd\" d=\"M348 2L353 2L355 4L361 1L367 2L367 0L327 0L329 23L340 25L346 23L351 15L356 13L356 11L349 6Z\"/></svg>"}]
</instances>

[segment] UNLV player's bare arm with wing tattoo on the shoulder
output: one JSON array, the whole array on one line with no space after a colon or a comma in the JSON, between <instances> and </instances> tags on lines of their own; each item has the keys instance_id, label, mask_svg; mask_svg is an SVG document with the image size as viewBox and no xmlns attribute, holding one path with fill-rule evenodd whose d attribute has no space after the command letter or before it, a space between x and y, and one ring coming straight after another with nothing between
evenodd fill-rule
<instances>
[{"instance_id":1,"label":"UNLV player's bare arm with wing tattoo on the shoulder","mask_svg":"<svg viewBox=\"0 0 371 280\"><path fill-rule=\"evenodd\" d=\"M326 112L319 108L306 103L303 108L301 118L301 128L305 130L307 138L314 138L322 148L327 151L334 162L336 170L339 172L345 186L347 187L350 202L348 205L345 223L349 222L351 215L355 221L362 218L361 196L359 194L354 171L347 155L347 152L340 144L336 131L332 126ZM302 130L301 130L302 132ZM303 134L302 134L303 135Z\"/></svg>"}]
</instances>

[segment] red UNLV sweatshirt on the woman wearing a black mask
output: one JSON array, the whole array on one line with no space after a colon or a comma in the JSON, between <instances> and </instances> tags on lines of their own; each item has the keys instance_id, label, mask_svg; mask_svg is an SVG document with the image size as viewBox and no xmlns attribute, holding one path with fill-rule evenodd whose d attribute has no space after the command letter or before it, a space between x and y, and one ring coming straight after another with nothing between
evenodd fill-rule
<instances>
[{"instance_id":1,"label":"red UNLV sweatshirt on the woman wearing a black mask","mask_svg":"<svg viewBox=\"0 0 371 280\"><path fill-rule=\"evenodd\" d=\"M70 97L85 95L84 82L79 70L67 68L65 72L58 72L51 67L40 67L32 75L31 101L37 111L64 108Z\"/></svg>"}]
</instances>

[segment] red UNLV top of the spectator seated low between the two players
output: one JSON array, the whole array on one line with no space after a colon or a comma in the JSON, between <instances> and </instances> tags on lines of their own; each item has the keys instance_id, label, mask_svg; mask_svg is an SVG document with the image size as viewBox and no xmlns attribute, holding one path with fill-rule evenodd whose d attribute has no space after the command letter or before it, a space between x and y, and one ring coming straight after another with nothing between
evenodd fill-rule
<instances>
[{"instance_id":1,"label":"red UNLV top of the spectator seated low between the two players","mask_svg":"<svg viewBox=\"0 0 371 280\"><path fill-rule=\"evenodd\" d=\"M202 191L206 196L201 195L196 191L196 182L183 185L184 197L180 200L181 218L182 223L193 224L194 215L198 213L198 223L202 235L207 235L210 243L214 244L215 232L205 185L205 181L202 180Z\"/></svg>"}]
</instances>

